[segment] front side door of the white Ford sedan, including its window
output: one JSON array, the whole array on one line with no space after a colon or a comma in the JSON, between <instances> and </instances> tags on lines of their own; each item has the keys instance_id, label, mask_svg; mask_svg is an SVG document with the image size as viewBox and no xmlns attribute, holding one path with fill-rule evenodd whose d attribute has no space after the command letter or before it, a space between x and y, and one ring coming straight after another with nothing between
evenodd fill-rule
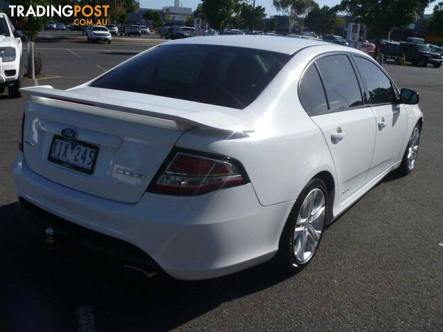
<instances>
[{"instance_id":1,"label":"front side door of the white Ford sedan, including its window","mask_svg":"<svg viewBox=\"0 0 443 332\"><path fill-rule=\"evenodd\" d=\"M371 59L354 55L354 62L369 95L369 104L377 119L374 157L368 181L386 171L403 156L401 151L408 126L404 104L388 75Z\"/></svg>"}]
</instances>

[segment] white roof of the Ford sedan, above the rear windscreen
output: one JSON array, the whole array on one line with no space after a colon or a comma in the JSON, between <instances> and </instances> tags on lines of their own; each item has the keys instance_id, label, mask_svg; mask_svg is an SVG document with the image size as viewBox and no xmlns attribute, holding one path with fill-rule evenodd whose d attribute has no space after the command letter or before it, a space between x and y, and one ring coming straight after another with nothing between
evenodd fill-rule
<instances>
[{"instance_id":1,"label":"white roof of the Ford sedan, above the rear windscreen","mask_svg":"<svg viewBox=\"0 0 443 332\"><path fill-rule=\"evenodd\" d=\"M278 53L293 54L301 48L315 45L332 45L315 39L288 38L266 35L229 35L229 36L205 36L186 39L176 39L168 44L210 44L219 46L237 46L244 48L256 48ZM341 46L331 46L341 50Z\"/></svg>"}]
</instances>

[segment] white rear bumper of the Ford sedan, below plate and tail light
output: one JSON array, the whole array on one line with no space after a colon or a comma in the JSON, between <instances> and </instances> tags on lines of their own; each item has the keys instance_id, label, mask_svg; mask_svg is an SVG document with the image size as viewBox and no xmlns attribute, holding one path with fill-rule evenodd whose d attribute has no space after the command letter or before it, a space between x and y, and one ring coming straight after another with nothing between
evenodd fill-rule
<instances>
[{"instance_id":1,"label":"white rear bumper of the Ford sedan, below plate and tail light","mask_svg":"<svg viewBox=\"0 0 443 332\"><path fill-rule=\"evenodd\" d=\"M219 277L271 259L293 205L263 207L251 184L202 196L146 193L128 204L49 181L31 171L21 153L12 170L18 195L28 203L129 243L177 279Z\"/></svg>"}]
</instances>

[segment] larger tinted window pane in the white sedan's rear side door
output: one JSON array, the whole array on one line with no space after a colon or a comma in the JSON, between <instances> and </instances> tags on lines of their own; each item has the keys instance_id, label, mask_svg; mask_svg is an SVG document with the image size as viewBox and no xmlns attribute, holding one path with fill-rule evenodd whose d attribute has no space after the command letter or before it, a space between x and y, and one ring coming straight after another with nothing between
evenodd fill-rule
<instances>
[{"instance_id":1,"label":"larger tinted window pane in the white sedan's rear side door","mask_svg":"<svg viewBox=\"0 0 443 332\"><path fill-rule=\"evenodd\" d=\"M316 61L332 111L363 104L359 82L346 55L329 55Z\"/></svg>"}]
</instances>

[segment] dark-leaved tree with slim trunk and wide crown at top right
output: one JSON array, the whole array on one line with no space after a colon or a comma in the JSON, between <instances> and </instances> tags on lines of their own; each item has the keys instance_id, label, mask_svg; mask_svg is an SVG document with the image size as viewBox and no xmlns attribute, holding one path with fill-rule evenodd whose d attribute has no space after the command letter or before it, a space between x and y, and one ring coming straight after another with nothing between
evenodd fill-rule
<instances>
[{"instance_id":1,"label":"dark-leaved tree with slim trunk and wide crown at top right","mask_svg":"<svg viewBox=\"0 0 443 332\"><path fill-rule=\"evenodd\" d=\"M339 9L347 11L370 30L377 39L374 58L377 59L381 37L395 28L417 21L430 0L342 0Z\"/></svg>"}]
</instances>

